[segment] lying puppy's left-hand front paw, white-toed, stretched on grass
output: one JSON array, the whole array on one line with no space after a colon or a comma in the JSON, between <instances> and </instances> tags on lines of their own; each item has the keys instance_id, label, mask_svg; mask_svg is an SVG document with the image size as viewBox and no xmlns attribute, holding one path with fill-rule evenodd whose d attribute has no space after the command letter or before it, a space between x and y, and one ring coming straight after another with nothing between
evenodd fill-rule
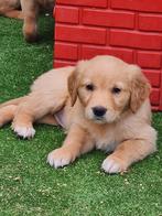
<instances>
[{"instance_id":1,"label":"lying puppy's left-hand front paw, white-toed, stretched on grass","mask_svg":"<svg viewBox=\"0 0 162 216\"><path fill-rule=\"evenodd\" d=\"M74 159L75 158L73 156L71 151L68 151L65 148L60 148L52 151L47 155L47 163L50 163L51 166L57 169L57 168L63 168L65 165L68 165L71 162L74 161Z\"/></svg>"}]
</instances>

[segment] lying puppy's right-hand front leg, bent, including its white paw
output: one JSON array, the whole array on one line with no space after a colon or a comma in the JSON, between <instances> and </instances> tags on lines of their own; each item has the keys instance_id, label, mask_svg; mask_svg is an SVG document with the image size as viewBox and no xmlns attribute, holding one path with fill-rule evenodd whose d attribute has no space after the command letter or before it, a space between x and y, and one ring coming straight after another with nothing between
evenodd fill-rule
<instances>
[{"instance_id":1,"label":"lying puppy's right-hand front leg, bent, including its white paw","mask_svg":"<svg viewBox=\"0 0 162 216\"><path fill-rule=\"evenodd\" d=\"M155 139L154 142L142 139L125 141L117 147L112 154L107 156L101 168L107 173L125 172L133 162L153 153L156 150L154 143Z\"/></svg>"}]
</instances>

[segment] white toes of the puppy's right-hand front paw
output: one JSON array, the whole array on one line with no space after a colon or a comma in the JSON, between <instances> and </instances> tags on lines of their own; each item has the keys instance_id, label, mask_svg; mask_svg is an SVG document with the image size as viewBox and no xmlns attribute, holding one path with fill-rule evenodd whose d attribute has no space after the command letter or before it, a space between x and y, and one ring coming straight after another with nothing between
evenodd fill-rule
<instances>
[{"instance_id":1,"label":"white toes of the puppy's right-hand front paw","mask_svg":"<svg viewBox=\"0 0 162 216\"><path fill-rule=\"evenodd\" d=\"M109 156L102 162L101 169L107 173L119 173L123 171L122 164L116 159Z\"/></svg>"}]
</instances>

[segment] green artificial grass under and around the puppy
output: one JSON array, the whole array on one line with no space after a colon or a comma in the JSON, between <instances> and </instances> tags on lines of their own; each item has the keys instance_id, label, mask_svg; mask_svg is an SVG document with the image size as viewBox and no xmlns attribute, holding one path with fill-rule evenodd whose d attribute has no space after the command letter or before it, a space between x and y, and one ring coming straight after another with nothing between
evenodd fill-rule
<instances>
[{"instance_id":1,"label":"green artificial grass under and around the puppy","mask_svg":"<svg viewBox=\"0 0 162 216\"><path fill-rule=\"evenodd\" d=\"M23 41L22 22L0 18L0 102L29 91L53 63L53 20L42 18L41 41ZM159 151L123 175L100 170L106 154L90 152L54 170L46 155L62 144L58 128L35 126L21 140L10 126L0 129L0 216L162 216L162 114L153 115Z\"/></svg>"}]
</instances>

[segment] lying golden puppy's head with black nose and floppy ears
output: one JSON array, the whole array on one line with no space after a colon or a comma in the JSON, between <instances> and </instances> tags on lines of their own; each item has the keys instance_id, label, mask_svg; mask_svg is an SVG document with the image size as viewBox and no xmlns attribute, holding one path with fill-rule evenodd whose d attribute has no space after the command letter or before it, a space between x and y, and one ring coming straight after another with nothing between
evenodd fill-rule
<instances>
[{"instance_id":1,"label":"lying golden puppy's head with black nose and floppy ears","mask_svg":"<svg viewBox=\"0 0 162 216\"><path fill-rule=\"evenodd\" d=\"M138 66L112 56L97 56L77 64L68 90L72 106L78 97L87 119L109 123L129 109L136 112L149 97L150 85Z\"/></svg>"}]
</instances>

